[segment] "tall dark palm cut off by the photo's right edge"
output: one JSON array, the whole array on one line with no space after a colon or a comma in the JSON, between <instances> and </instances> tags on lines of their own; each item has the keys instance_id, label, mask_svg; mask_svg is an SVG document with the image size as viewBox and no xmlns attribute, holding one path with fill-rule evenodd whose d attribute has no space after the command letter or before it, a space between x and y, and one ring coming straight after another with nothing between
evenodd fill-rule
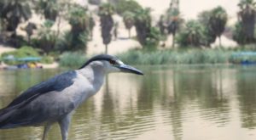
<instances>
[{"instance_id":1,"label":"tall dark palm cut off by the photo's right edge","mask_svg":"<svg viewBox=\"0 0 256 140\"><path fill-rule=\"evenodd\" d=\"M238 4L240 12L238 20L241 21L241 29L243 36L246 36L247 43L254 42L254 25L256 16L256 3L253 0L241 0Z\"/></svg>"}]
</instances>

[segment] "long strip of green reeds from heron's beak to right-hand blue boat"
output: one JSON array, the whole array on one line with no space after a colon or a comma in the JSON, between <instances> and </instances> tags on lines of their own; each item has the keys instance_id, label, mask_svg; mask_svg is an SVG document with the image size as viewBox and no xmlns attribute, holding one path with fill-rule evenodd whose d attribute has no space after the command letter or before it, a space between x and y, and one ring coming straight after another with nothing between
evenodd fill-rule
<instances>
[{"instance_id":1,"label":"long strip of green reeds from heron's beak to right-hand blue boat","mask_svg":"<svg viewBox=\"0 0 256 140\"><path fill-rule=\"evenodd\" d=\"M234 50L218 49L168 49L154 52L130 50L118 54L127 64L227 64Z\"/></svg>"}]
</instances>

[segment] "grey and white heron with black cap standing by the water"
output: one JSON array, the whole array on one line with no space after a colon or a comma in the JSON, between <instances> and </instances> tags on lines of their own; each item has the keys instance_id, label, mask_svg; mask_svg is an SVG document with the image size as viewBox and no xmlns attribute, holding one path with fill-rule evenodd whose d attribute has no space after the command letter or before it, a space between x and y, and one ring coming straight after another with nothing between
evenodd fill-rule
<instances>
[{"instance_id":1,"label":"grey and white heron with black cap standing by the water","mask_svg":"<svg viewBox=\"0 0 256 140\"><path fill-rule=\"evenodd\" d=\"M29 87L5 108L0 109L0 129L20 126L44 126L45 140L50 127L58 123L62 140L75 109L100 90L108 73L143 75L141 70L124 64L108 54L98 54L79 69L69 70Z\"/></svg>"}]
</instances>

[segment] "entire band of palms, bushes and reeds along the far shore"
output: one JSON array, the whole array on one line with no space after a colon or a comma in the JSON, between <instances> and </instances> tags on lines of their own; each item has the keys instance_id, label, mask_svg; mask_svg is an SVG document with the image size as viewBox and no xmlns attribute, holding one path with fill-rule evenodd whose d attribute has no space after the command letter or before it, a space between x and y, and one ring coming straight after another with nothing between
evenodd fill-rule
<instances>
[{"instance_id":1,"label":"entire band of palms, bushes and reeds along the far shore","mask_svg":"<svg viewBox=\"0 0 256 140\"><path fill-rule=\"evenodd\" d=\"M120 55L120 58L124 58L131 64L135 62L138 64L227 63L231 62L231 53L237 51L222 48L221 36L224 34L228 22L228 14L224 8L219 6L202 11L195 20L185 21L182 11L179 10L178 1L172 0L170 7L161 15L156 27L150 15L151 9L143 8L135 0L108 0L108 3L102 3L102 0L90 0L89 3L98 6L97 15L101 22L102 41L106 47L106 53L108 53L108 44L113 40L112 36L118 34L119 23L113 20L114 14L123 17L129 38L131 37L131 28L135 26L136 39L143 50L131 50ZM253 44L256 41L255 2L254 0L240 0L238 7L238 21L232 32L227 32L241 45ZM44 16L46 21L42 25L32 22L24 26L20 25L29 20L34 12L38 16ZM29 0L1 0L0 43L15 48L22 46L36 48L34 49L36 53L29 50L31 48L20 48L16 53L4 53L2 58L8 54L15 55L15 57L39 56L43 57L41 61L49 63L53 59L44 57L44 55L54 53L56 59L62 53L61 65L82 64L87 43L93 38L92 32L96 25L95 16L96 12L90 11L90 8L71 3L68 0L34 0L33 3ZM62 20L71 26L67 31L61 30ZM26 31L27 36L16 34L19 25L19 30ZM160 40L163 42L162 47L165 47L166 39L170 35L173 37L172 49L158 50ZM210 49L217 38L219 48ZM175 46L176 44L177 46ZM254 45L253 48L255 48ZM26 52L27 50L28 52ZM78 51L82 53L72 53ZM79 57L79 55L83 57ZM76 59L78 62L71 61L71 59ZM253 58L243 59L253 60ZM239 61L237 58L233 58L233 60L234 62ZM73 64L75 61L78 64Z\"/></svg>"}]
</instances>

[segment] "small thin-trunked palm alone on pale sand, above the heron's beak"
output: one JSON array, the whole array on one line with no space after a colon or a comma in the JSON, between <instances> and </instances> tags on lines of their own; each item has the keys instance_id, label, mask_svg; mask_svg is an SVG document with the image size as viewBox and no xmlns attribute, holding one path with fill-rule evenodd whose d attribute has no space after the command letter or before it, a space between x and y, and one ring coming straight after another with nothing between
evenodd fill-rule
<instances>
[{"instance_id":1,"label":"small thin-trunked palm alone on pale sand, above the heron's beak","mask_svg":"<svg viewBox=\"0 0 256 140\"><path fill-rule=\"evenodd\" d=\"M126 11L123 14L123 21L125 23L125 28L129 32L129 38L131 38L131 27L134 25L134 14L129 11Z\"/></svg>"}]
</instances>

